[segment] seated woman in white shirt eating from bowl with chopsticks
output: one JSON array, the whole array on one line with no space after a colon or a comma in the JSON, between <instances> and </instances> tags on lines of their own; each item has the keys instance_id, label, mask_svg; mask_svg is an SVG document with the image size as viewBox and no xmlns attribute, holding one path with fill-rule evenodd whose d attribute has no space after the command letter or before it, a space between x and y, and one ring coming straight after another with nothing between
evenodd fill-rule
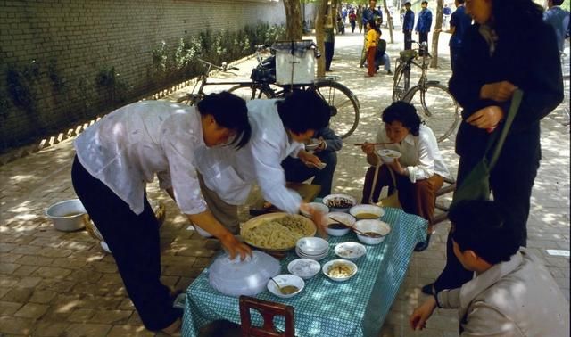
<instances>
[{"instance_id":1,"label":"seated woman in white shirt eating from bowl with chopsticks","mask_svg":"<svg viewBox=\"0 0 571 337\"><path fill-rule=\"evenodd\" d=\"M412 104L399 101L389 105L383 111L383 122L385 127L378 129L376 143L389 144L365 143L361 146L372 165L365 176L361 202L377 202L384 186L389 186L389 193L396 187L402 209L428 220L426 241L415 247L415 251L424 251L433 231L436 191L443 186L443 177L448 177L448 168L444 165L434 133L421 122ZM401 152L401 158L383 163L376 152L380 149ZM377 184L373 186L377 165L382 166L378 170ZM393 186L388 168L393 170L396 186Z\"/></svg>"}]
</instances>

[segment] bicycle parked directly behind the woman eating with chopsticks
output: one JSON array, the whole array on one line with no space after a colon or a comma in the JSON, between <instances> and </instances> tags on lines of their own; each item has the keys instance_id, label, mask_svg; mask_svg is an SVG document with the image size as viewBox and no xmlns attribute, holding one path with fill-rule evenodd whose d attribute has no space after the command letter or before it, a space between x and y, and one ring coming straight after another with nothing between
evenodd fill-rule
<instances>
[{"instance_id":1,"label":"bicycle parked directly behind the woman eating with chopsticks","mask_svg":"<svg viewBox=\"0 0 571 337\"><path fill-rule=\"evenodd\" d=\"M440 143L451 136L459 125L459 104L446 86L439 81L427 79L428 72L428 46L419 44L418 50L405 50L397 59L393 77L393 102L404 101L412 103L416 107L421 106L426 125L434 131L437 141ZM416 62L421 58L421 62ZM410 70L412 65L420 68L421 74L418 83L410 87ZM417 93L419 93L417 95ZM420 112L418 111L420 114Z\"/></svg>"}]
</instances>

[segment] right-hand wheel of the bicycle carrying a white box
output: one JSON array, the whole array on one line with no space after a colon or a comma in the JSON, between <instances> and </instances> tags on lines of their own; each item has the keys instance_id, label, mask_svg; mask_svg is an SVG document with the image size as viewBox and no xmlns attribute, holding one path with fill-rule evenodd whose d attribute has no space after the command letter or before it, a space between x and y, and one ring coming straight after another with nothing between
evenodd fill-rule
<instances>
[{"instance_id":1,"label":"right-hand wheel of the bicycle carrying a white box","mask_svg":"<svg viewBox=\"0 0 571 337\"><path fill-rule=\"evenodd\" d=\"M313 90L331 107L329 127L341 138L351 136L359 124L357 97L349 88L333 81L318 82Z\"/></svg>"}]
</instances>

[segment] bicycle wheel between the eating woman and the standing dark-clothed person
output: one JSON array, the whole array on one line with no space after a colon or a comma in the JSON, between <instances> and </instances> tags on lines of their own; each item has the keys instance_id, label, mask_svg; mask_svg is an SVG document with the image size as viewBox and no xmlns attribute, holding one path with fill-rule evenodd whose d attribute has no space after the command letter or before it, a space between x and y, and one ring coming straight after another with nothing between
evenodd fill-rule
<instances>
[{"instance_id":1,"label":"bicycle wheel between the eating woman and the standing dark-clothed person","mask_svg":"<svg viewBox=\"0 0 571 337\"><path fill-rule=\"evenodd\" d=\"M439 143L451 136L459 125L459 104L446 86L427 83L424 90L422 86L415 86L403 101L417 108L420 118L434 131Z\"/></svg>"}]
</instances>

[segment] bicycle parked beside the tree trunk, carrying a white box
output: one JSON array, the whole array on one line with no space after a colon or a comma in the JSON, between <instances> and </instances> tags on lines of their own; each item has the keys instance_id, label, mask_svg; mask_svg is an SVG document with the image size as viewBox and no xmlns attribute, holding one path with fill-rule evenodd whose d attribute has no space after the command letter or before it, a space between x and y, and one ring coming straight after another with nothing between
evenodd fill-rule
<instances>
[{"instance_id":1,"label":"bicycle parked beside the tree trunk, carrying a white box","mask_svg":"<svg viewBox=\"0 0 571 337\"><path fill-rule=\"evenodd\" d=\"M208 82L211 70L237 70L236 67L215 65L211 62L198 59L205 65L205 71L198 78L193 91L177 100L178 103L195 104L205 94L204 86L209 85L235 85L228 89L228 92L238 95L244 100L260 98L284 97L294 90L313 90L321 96L331 107L331 119L329 127L341 138L351 136L359 124L360 103L352 91L336 81L334 77L318 78L310 84L280 85L276 83L276 62L275 55L263 58L262 52L268 46L258 45L256 47L256 58L258 65L252 70L252 81L236 82ZM272 75L273 73L273 75ZM198 87L198 91L196 90Z\"/></svg>"}]
</instances>

